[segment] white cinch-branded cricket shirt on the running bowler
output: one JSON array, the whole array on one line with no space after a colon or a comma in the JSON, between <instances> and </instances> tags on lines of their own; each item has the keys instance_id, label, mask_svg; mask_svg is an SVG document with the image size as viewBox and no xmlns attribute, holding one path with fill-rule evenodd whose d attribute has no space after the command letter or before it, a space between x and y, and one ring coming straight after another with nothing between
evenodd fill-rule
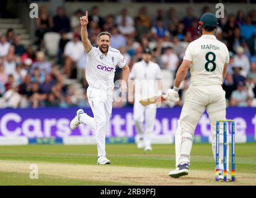
<instances>
[{"instance_id":1,"label":"white cinch-branded cricket shirt on the running bowler","mask_svg":"<svg viewBox=\"0 0 256 198\"><path fill-rule=\"evenodd\" d=\"M92 88L113 90L115 67L125 65L125 58L118 49L109 47L105 56L99 48L92 47L87 53L86 80Z\"/></svg>"}]
</instances>

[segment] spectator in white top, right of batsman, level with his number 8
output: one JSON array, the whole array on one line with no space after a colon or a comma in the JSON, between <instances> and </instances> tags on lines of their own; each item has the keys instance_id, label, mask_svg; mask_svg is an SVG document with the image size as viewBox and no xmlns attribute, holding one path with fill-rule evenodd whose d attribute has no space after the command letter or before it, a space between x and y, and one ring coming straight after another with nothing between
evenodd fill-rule
<instances>
[{"instance_id":1,"label":"spectator in white top, right of batsman, level with his number 8","mask_svg":"<svg viewBox=\"0 0 256 198\"><path fill-rule=\"evenodd\" d=\"M236 65L241 66L241 68L242 68L241 75L246 77L246 75L250 69L250 62L249 62L249 59L247 58L247 56L245 56L244 48L242 46L237 46L236 55L234 57L234 62L236 63Z\"/></svg>"}]
</instances>

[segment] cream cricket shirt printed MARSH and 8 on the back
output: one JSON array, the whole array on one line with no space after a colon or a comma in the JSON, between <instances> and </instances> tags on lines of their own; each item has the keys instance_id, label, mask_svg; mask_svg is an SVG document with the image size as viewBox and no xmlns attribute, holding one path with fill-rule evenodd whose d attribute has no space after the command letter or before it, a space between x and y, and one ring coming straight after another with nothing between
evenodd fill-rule
<instances>
[{"instance_id":1,"label":"cream cricket shirt printed MARSH and 8 on the back","mask_svg":"<svg viewBox=\"0 0 256 198\"><path fill-rule=\"evenodd\" d=\"M192 61L192 85L221 85L224 64L229 62L229 51L214 35L202 35L188 45L183 59Z\"/></svg>"}]
</instances>

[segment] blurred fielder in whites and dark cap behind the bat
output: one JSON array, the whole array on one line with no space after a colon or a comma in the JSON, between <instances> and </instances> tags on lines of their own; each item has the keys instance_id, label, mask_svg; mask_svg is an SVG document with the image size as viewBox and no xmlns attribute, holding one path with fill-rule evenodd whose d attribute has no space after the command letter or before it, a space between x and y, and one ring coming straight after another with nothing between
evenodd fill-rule
<instances>
[{"instance_id":1,"label":"blurred fielder in whites and dark cap behind the bat","mask_svg":"<svg viewBox=\"0 0 256 198\"><path fill-rule=\"evenodd\" d=\"M145 151L151 151L151 135L156 121L157 104L143 106L139 100L154 95L161 95L161 69L155 62L151 61L152 53L149 48L145 48L142 54L142 61L136 62L130 74L130 88L133 93L135 85L135 99L133 105L133 118L137 132L137 147ZM145 127L143 122L145 119Z\"/></svg>"}]
</instances>

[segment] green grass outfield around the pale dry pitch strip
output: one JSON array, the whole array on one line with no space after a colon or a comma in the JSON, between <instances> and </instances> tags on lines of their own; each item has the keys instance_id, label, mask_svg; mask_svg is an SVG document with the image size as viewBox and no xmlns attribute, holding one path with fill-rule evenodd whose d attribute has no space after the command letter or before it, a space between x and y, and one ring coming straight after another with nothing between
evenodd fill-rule
<instances>
[{"instance_id":1,"label":"green grass outfield around the pale dry pitch strip","mask_svg":"<svg viewBox=\"0 0 256 198\"><path fill-rule=\"evenodd\" d=\"M107 157L112 162L108 167L120 166L122 168L150 168L150 170L169 169L175 166L175 149L173 145L153 145L153 151L144 153L137 149L135 144L108 144ZM22 145L0 146L1 161L17 161L20 163L61 163L64 165L92 165L85 167L97 168L95 165L97 148L96 145ZM19 163L17 163L19 164ZM86 168L85 168L86 169ZM214 180L214 160L211 144L194 144L190 170L212 171ZM90 170L85 170L89 171ZM99 170L104 171L104 170ZM106 170L107 171L107 170ZM29 172L28 172L29 173ZM210 172L211 173L211 172ZM252 174L256 176L256 144L236 144L236 173ZM167 172L168 174L168 172ZM118 185L118 181L97 181L95 178L64 178L50 174L40 174L40 179L30 179L24 171L8 170L0 168L0 185ZM168 175L167 175L168 176ZM129 177L129 175L128 175ZM246 177L246 176L245 176ZM183 177L185 178L185 177ZM183 179L182 178L182 179ZM166 178L168 179L168 178ZM170 178L173 179L173 178ZM239 179L239 178L238 178ZM177 179L175 180L177 181ZM180 181L185 181L180 180ZM239 182L239 180L237 181ZM139 184L128 180L121 184ZM144 184L144 183L141 183ZM209 183L210 185L212 183ZM242 183L242 184L246 184ZM252 183L256 185L255 181Z\"/></svg>"}]
</instances>

